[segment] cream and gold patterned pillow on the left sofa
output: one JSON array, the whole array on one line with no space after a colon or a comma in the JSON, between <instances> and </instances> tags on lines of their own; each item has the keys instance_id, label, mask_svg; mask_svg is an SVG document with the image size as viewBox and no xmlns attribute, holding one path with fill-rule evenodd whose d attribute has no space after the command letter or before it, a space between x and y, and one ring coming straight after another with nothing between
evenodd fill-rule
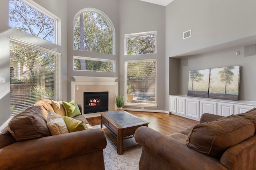
<instances>
[{"instance_id":1,"label":"cream and gold patterned pillow on the left sofa","mask_svg":"<svg viewBox=\"0 0 256 170\"><path fill-rule=\"evenodd\" d=\"M48 111L47 126L52 135L60 135L69 132L64 119L52 111Z\"/></svg>"}]
</instances>

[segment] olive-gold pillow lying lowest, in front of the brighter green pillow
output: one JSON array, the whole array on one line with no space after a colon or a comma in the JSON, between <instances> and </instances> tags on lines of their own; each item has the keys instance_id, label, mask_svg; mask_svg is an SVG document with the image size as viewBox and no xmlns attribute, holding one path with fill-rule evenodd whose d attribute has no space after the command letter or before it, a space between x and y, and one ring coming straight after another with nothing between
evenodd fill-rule
<instances>
[{"instance_id":1,"label":"olive-gold pillow lying lowest, in front of the brighter green pillow","mask_svg":"<svg viewBox=\"0 0 256 170\"><path fill-rule=\"evenodd\" d=\"M64 116L63 117L69 132L88 130L84 121L73 119L72 117Z\"/></svg>"}]
</instances>

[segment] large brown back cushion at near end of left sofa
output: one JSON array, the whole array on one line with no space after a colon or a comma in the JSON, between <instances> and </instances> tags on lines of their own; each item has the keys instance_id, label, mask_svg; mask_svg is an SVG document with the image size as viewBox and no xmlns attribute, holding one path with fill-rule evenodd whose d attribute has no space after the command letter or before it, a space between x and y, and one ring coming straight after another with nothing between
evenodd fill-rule
<instances>
[{"instance_id":1,"label":"large brown back cushion at near end of left sofa","mask_svg":"<svg viewBox=\"0 0 256 170\"><path fill-rule=\"evenodd\" d=\"M7 129L16 141L26 141L50 136L45 113L42 106L33 106L14 116Z\"/></svg>"}]
</instances>

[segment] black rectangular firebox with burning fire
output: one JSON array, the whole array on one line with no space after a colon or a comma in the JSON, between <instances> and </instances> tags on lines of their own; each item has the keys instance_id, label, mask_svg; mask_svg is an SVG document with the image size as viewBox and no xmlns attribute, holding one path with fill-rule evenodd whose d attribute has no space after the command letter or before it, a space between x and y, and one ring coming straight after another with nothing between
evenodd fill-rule
<instances>
[{"instance_id":1,"label":"black rectangular firebox with burning fire","mask_svg":"<svg viewBox=\"0 0 256 170\"><path fill-rule=\"evenodd\" d=\"M108 92L84 92L84 114L108 111Z\"/></svg>"}]
</instances>

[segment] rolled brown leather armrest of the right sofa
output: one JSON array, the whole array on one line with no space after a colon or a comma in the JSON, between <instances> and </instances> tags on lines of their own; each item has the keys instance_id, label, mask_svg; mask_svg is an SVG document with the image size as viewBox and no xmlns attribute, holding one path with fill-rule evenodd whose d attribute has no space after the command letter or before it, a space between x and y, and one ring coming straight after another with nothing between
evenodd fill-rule
<instances>
[{"instance_id":1,"label":"rolled brown leather armrest of the right sofa","mask_svg":"<svg viewBox=\"0 0 256 170\"><path fill-rule=\"evenodd\" d=\"M168 164L168 168L180 170L226 169L218 159L190 149L185 143L149 127L139 127L135 131L135 140L143 148L144 157L140 158L140 170L153 170L156 168L153 166L161 164ZM162 161L164 163L161 163ZM163 169L159 166L159 170Z\"/></svg>"}]
</instances>

